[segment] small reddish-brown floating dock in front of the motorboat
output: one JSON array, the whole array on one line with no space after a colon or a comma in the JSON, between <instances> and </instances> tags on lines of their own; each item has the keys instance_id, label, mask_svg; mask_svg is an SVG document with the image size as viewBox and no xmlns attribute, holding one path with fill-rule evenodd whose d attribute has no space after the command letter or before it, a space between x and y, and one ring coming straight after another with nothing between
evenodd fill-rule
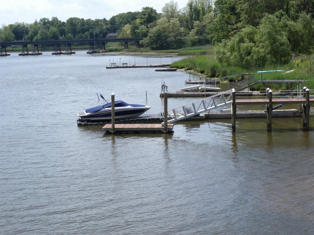
<instances>
[{"instance_id":1,"label":"small reddish-brown floating dock in front of the motorboat","mask_svg":"<svg viewBox=\"0 0 314 235\"><path fill-rule=\"evenodd\" d=\"M168 132L173 131L174 124L168 124ZM106 124L101 130L105 133L112 134L112 125ZM115 124L115 134L118 133L165 133L164 127L161 124Z\"/></svg>"}]
</instances>

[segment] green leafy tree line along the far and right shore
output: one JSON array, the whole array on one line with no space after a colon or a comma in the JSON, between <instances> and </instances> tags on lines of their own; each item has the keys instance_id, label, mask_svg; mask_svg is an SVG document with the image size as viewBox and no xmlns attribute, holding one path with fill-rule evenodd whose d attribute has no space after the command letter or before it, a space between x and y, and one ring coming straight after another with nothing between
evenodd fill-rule
<instances>
[{"instance_id":1,"label":"green leafy tree line along the far and right shore","mask_svg":"<svg viewBox=\"0 0 314 235\"><path fill-rule=\"evenodd\" d=\"M254 66L284 63L313 52L312 0L189 0L179 9L171 0L157 13L152 7L120 13L109 20L42 18L32 24L3 25L1 41L144 37L151 50L215 45L221 62Z\"/></svg>"}]
</instances>

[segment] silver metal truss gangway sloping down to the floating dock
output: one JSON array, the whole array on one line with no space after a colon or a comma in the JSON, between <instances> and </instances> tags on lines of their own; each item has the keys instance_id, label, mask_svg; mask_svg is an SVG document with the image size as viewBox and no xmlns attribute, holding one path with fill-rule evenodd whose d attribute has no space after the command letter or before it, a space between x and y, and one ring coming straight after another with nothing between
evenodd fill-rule
<instances>
[{"instance_id":1,"label":"silver metal truss gangway sloping down to the floating dock","mask_svg":"<svg viewBox=\"0 0 314 235\"><path fill-rule=\"evenodd\" d=\"M230 93L230 95L226 98L225 95L228 93ZM195 102L187 103L185 105L169 109L167 111L167 117L170 117L171 119L168 119L168 123L173 123L185 118L198 115L203 112L209 112L211 110L231 104L231 94L232 90L224 91ZM165 117L165 115L163 115L163 117ZM162 122L161 125L163 126L164 122Z\"/></svg>"}]
</instances>

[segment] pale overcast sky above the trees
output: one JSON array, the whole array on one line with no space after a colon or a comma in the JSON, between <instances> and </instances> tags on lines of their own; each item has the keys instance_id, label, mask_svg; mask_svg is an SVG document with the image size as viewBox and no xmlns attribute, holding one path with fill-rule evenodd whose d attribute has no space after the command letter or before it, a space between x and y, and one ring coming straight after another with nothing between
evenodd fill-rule
<instances>
[{"instance_id":1,"label":"pale overcast sky above the trees","mask_svg":"<svg viewBox=\"0 0 314 235\"><path fill-rule=\"evenodd\" d=\"M3 0L1 1L0 26L15 22L33 23L35 19L57 17L66 21L70 17L109 20L119 13L141 11L152 7L158 13L171 0ZM174 0L179 8L188 0Z\"/></svg>"}]
</instances>

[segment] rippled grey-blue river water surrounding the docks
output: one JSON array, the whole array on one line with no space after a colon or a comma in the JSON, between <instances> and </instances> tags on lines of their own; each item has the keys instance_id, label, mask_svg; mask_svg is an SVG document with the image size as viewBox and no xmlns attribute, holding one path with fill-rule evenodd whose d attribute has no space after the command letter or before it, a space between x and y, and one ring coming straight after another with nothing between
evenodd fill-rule
<instances>
[{"instance_id":1,"label":"rippled grey-blue river water surrounding the docks","mask_svg":"<svg viewBox=\"0 0 314 235\"><path fill-rule=\"evenodd\" d=\"M104 134L76 124L96 93L156 115L162 80L176 91L190 76L106 69L178 57L85 52L0 57L0 234L314 233L313 116L309 132L301 118L274 118L268 133L262 118L238 119L236 133L226 119Z\"/></svg>"}]
</instances>

